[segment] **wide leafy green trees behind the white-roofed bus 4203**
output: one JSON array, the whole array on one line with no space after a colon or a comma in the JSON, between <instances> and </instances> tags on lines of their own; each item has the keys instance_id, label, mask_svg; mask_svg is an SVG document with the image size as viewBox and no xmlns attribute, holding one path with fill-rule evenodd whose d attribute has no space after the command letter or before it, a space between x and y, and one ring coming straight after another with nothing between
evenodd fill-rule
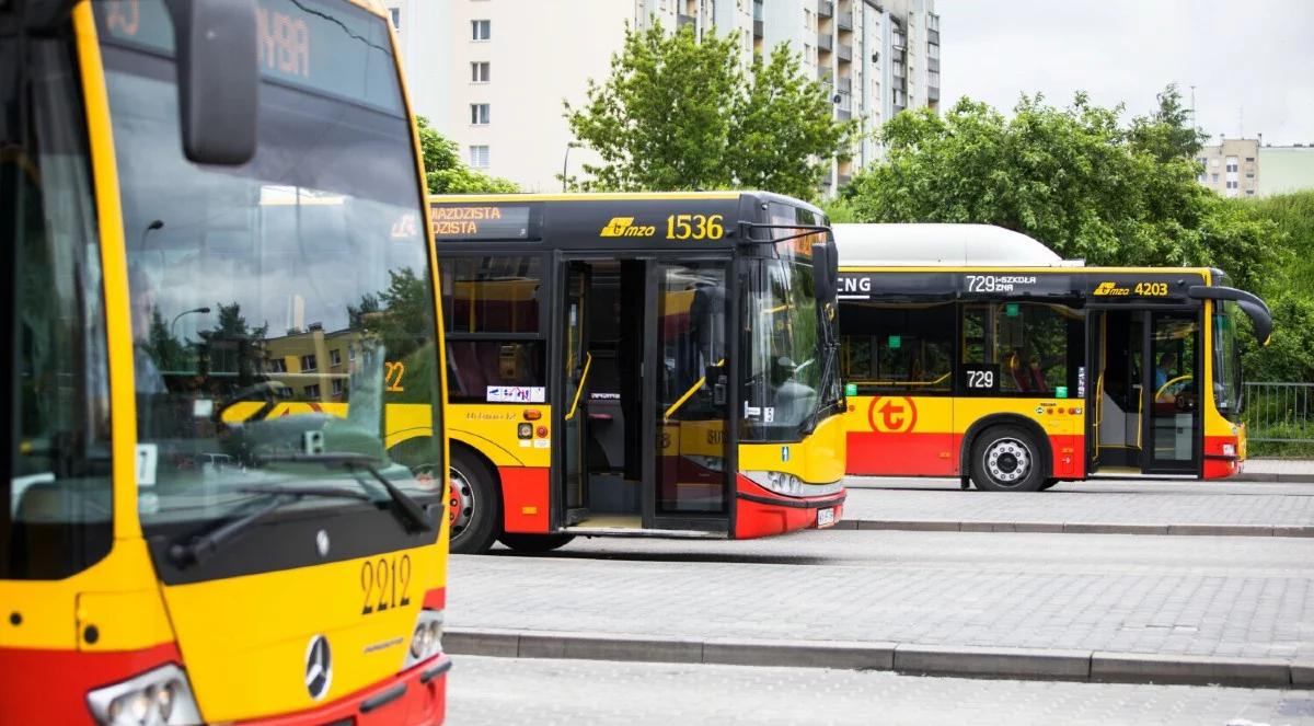
<instances>
[{"instance_id":1,"label":"wide leafy green trees behind the white-roofed bus 4203","mask_svg":"<svg viewBox=\"0 0 1314 726\"><path fill-rule=\"evenodd\" d=\"M1196 183L1198 134L1176 89L1123 128L1122 107L1077 93L1026 97L1005 117L961 100L943 117L900 113L880 132L887 159L844 189L857 221L978 222L1034 237L1092 264L1221 266L1247 284L1281 254L1273 225Z\"/></svg>"}]
</instances>

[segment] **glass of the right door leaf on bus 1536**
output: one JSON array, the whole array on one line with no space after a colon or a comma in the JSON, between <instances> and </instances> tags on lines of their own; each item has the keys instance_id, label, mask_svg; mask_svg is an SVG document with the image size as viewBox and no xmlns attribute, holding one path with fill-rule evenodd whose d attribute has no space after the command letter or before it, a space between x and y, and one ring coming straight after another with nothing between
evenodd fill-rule
<instances>
[{"instance_id":1,"label":"glass of the right door leaf on bus 1536","mask_svg":"<svg viewBox=\"0 0 1314 726\"><path fill-rule=\"evenodd\" d=\"M653 526L727 512L727 263L654 263L657 287ZM665 520L665 522L664 522Z\"/></svg>"}]
</instances>

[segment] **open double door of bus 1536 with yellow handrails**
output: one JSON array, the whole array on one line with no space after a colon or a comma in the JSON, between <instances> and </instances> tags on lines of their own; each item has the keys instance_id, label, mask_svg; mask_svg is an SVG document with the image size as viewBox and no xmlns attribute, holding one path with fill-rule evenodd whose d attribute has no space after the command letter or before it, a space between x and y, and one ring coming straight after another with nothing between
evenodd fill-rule
<instances>
[{"instance_id":1,"label":"open double door of bus 1536 with yellow handrails","mask_svg":"<svg viewBox=\"0 0 1314 726\"><path fill-rule=\"evenodd\" d=\"M729 531L729 260L561 259L570 531Z\"/></svg>"}]
</instances>

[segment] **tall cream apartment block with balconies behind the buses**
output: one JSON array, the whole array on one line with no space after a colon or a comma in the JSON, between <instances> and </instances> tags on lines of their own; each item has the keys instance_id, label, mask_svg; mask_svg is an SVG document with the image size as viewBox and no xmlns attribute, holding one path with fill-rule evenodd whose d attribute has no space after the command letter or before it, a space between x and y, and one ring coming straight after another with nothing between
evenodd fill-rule
<instances>
[{"instance_id":1,"label":"tall cream apartment block with balconies behind the buses","mask_svg":"<svg viewBox=\"0 0 1314 726\"><path fill-rule=\"evenodd\" d=\"M527 191L579 174L562 100L603 80L625 25L656 17L741 39L742 59L790 43L863 141L832 162L827 189L880 157L870 138L905 108L940 108L934 0L389 0L417 110L470 166Z\"/></svg>"}]
</instances>

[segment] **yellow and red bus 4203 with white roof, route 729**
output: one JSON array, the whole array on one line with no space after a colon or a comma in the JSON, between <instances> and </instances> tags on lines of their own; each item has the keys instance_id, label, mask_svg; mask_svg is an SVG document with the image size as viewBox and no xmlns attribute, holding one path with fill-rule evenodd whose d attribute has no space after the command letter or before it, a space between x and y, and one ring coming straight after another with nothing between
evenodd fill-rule
<instances>
[{"instance_id":1,"label":"yellow and red bus 4203 with white roof, route 729","mask_svg":"<svg viewBox=\"0 0 1314 726\"><path fill-rule=\"evenodd\" d=\"M1221 479L1246 429L1238 312L1209 268L1084 267L984 225L836 225L848 472L1038 491Z\"/></svg>"}]
</instances>

